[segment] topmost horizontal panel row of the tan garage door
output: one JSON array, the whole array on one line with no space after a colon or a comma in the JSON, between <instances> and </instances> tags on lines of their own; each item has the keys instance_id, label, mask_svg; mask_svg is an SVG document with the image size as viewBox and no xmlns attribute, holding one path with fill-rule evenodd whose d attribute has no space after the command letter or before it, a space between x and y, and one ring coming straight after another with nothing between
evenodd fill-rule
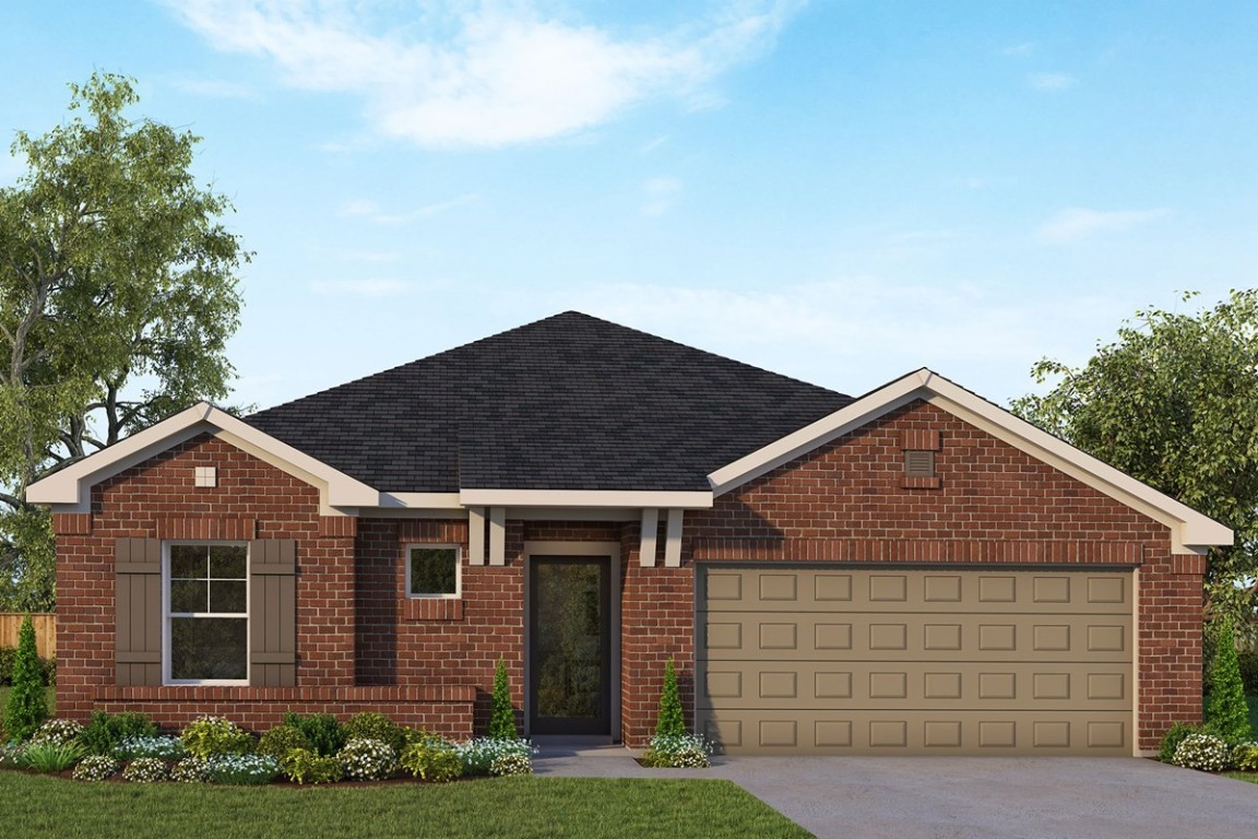
<instances>
[{"instance_id":1,"label":"topmost horizontal panel row of the tan garage door","mask_svg":"<svg viewBox=\"0 0 1258 839\"><path fill-rule=\"evenodd\" d=\"M1130 613L1127 572L847 571L791 566L712 571L701 581L708 611Z\"/></svg>"}]
</instances>

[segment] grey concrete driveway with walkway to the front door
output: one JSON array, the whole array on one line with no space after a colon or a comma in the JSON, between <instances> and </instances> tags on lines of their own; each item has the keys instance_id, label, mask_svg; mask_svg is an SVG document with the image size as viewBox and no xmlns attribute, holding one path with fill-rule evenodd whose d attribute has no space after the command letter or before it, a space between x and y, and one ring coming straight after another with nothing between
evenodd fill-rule
<instances>
[{"instance_id":1,"label":"grey concrete driveway with walkway to the front door","mask_svg":"<svg viewBox=\"0 0 1258 839\"><path fill-rule=\"evenodd\" d=\"M543 751L535 766L728 779L819 839L1184 839L1258 824L1258 785L1136 757L718 757L710 770L645 770L604 753Z\"/></svg>"}]
</instances>

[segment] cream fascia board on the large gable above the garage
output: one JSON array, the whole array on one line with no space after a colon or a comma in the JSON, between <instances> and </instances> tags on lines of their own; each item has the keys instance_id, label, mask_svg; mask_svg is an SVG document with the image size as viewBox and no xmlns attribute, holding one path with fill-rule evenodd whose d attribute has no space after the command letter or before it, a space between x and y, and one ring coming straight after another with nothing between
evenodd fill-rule
<instances>
[{"instance_id":1,"label":"cream fascia board on the large gable above the garage","mask_svg":"<svg viewBox=\"0 0 1258 839\"><path fill-rule=\"evenodd\" d=\"M1233 543L1232 531L1213 518L1203 516L926 367L897 379L847 408L717 469L708 475L712 493L721 496L736 489L918 399L1166 525L1171 531L1171 548L1176 553L1200 553L1210 546Z\"/></svg>"}]
</instances>

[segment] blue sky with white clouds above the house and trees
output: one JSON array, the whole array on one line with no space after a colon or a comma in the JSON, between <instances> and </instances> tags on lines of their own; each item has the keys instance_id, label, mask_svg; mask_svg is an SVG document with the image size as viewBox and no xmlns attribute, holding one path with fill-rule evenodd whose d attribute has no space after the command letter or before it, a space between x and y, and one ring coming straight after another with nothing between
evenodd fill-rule
<instances>
[{"instance_id":1,"label":"blue sky with white clouds above the house and trees","mask_svg":"<svg viewBox=\"0 0 1258 839\"><path fill-rule=\"evenodd\" d=\"M1004 403L1255 282L1255 54L1243 0L6 3L0 133L102 69L204 137L240 401L575 308Z\"/></svg>"}]
</instances>

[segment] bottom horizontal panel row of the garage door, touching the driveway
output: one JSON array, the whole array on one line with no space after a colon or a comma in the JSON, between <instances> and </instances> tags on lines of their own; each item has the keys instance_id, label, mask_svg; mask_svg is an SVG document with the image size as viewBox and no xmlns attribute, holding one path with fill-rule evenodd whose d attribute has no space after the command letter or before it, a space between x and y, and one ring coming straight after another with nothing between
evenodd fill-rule
<instances>
[{"instance_id":1,"label":"bottom horizontal panel row of the garage door, touching the driveway","mask_svg":"<svg viewBox=\"0 0 1258 839\"><path fill-rule=\"evenodd\" d=\"M1122 711L721 711L701 731L723 751L764 755L1131 755Z\"/></svg>"}]
</instances>

